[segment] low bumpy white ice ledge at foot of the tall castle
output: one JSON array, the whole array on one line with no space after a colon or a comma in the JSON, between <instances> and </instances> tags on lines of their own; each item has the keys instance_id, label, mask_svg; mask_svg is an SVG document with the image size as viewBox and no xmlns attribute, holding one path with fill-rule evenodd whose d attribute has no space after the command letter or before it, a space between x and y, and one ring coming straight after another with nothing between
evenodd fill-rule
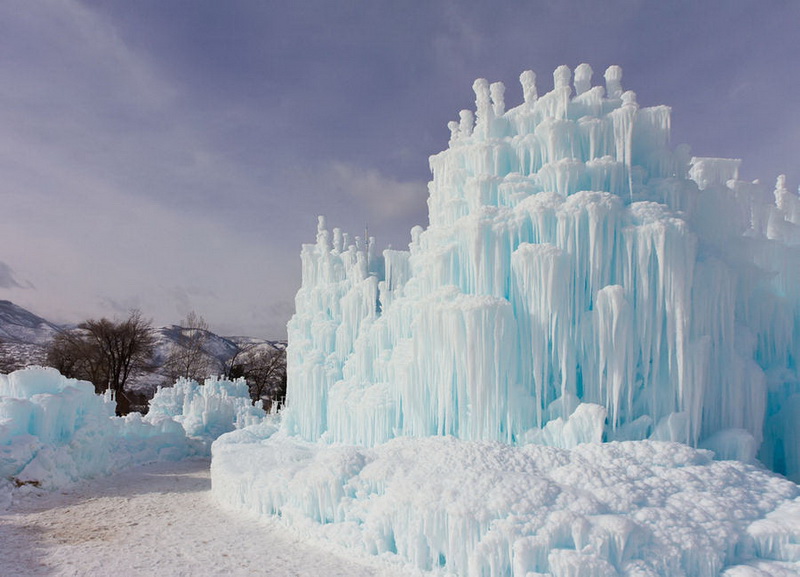
<instances>
[{"instance_id":1,"label":"low bumpy white ice ledge at foot of the tall castle","mask_svg":"<svg viewBox=\"0 0 800 577\"><path fill-rule=\"evenodd\" d=\"M276 430L213 444L219 500L432 575L800 574L800 488L710 451L453 437L366 448Z\"/></svg>"}]
</instances>

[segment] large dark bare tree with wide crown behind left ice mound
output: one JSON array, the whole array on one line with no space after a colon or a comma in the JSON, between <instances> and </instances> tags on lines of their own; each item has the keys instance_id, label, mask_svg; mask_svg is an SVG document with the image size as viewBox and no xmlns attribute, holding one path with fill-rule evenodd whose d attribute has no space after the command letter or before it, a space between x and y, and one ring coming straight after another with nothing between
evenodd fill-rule
<instances>
[{"instance_id":1,"label":"large dark bare tree with wide crown behind left ice mound","mask_svg":"<svg viewBox=\"0 0 800 577\"><path fill-rule=\"evenodd\" d=\"M155 337L150 321L134 310L124 321L90 319L72 331L56 335L48 350L48 364L67 377L94 383L98 393L114 391L117 414L130 411L125 384L152 368Z\"/></svg>"}]
</instances>

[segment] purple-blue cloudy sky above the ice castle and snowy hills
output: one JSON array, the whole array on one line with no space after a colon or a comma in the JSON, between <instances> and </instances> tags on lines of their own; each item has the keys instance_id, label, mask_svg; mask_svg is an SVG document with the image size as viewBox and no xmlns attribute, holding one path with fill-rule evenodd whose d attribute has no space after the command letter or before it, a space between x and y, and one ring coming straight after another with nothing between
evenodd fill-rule
<instances>
[{"instance_id":1,"label":"purple-blue cloudy sky above the ice castle and snowy hills","mask_svg":"<svg viewBox=\"0 0 800 577\"><path fill-rule=\"evenodd\" d=\"M0 299L48 320L285 338L317 215L427 225L479 77L611 64L672 142L800 184L800 3L3 0Z\"/></svg>"}]
</instances>

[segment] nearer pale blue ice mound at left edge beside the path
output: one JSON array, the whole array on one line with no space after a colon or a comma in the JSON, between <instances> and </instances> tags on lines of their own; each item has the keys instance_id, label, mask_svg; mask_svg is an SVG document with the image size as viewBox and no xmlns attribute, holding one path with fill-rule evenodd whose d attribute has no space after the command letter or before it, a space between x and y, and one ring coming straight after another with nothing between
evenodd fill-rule
<instances>
[{"instance_id":1,"label":"nearer pale blue ice mound at left edge beside the path","mask_svg":"<svg viewBox=\"0 0 800 577\"><path fill-rule=\"evenodd\" d=\"M110 395L55 369L0 374L0 482L54 489L190 454L174 420L115 417L115 407Z\"/></svg>"}]
</instances>

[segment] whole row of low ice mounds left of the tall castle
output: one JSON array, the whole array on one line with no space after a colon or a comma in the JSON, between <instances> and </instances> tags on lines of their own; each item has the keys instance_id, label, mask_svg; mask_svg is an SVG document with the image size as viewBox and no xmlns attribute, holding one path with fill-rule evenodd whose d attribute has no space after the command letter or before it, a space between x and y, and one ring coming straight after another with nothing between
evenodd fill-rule
<instances>
[{"instance_id":1,"label":"whole row of low ice mounds left of the tall castle","mask_svg":"<svg viewBox=\"0 0 800 577\"><path fill-rule=\"evenodd\" d=\"M0 374L0 507L11 489L62 487L149 461L208 454L220 434L264 420L243 381L179 381L153 410L114 416L110 395L55 369Z\"/></svg>"}]
</instances>

